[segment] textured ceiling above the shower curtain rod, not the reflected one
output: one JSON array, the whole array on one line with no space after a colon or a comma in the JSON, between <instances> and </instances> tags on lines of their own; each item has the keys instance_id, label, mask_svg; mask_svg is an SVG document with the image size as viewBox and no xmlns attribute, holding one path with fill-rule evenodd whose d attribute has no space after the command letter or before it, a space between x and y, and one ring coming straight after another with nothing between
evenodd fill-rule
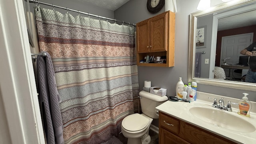
<instances>
[{"instance_id":1,"label":"textured ceiling above the shower curtain rod, not the reflected one","mask_svg":"<svg viewBox=\"0 0 256 144\"><path fill-rule=\"evenodd\" d=\"M116 10L129 0L78 0L81 2L90 2L93 5L99 6L101 8L105 8L108 10Z\"/></svg>"}]
</instances>

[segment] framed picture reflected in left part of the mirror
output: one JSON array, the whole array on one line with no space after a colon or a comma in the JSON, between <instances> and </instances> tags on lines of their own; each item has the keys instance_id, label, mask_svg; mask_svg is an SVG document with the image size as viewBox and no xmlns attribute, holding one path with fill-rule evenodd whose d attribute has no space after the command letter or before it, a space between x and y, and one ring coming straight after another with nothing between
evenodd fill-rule
<instances>
[{"instance_id":1,"label":"framed picture reflected in left part of the mirror","mask_svg":"<svg viewBox=\"0 0 256 144\"><path fill-rule=\"evenodd\" d=\"M206 47L206 26L201 26L196 29L196 48Z\"/></svg>"}]
</instances>

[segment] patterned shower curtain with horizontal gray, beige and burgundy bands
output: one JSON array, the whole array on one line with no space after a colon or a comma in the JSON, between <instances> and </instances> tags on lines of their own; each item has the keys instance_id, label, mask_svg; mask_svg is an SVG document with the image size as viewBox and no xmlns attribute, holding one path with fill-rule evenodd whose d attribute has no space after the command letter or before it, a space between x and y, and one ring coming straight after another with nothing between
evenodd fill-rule
<instances>
[{"instance_id":1,"label":"patterned shower curtain with horizontal gray, beige and burgundy bands","mask_svg":"<svg viewBox=\"0 0 256 144\"><path fill-rule=\"evenodd\" d=\"M40 51L52 58L65 144L100 144L138 110L134 26L35 8Z\"/></svg>"}]
</instances>

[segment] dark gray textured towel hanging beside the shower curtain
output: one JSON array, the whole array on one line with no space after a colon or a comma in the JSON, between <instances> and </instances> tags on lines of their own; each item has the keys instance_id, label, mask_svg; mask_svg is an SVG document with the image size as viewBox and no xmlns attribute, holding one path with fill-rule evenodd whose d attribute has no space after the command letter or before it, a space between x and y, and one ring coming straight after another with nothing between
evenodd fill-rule
<instances>
[{"instance_id":1,"label":"dark gray textured towel hanging beside the shower curtain","mask_svg":"<svg viewBox=\"0 0 256 144\"><path fill-rule=\"evenodd\" d=\"M44 128L47 144L64 144L63 123L60 113L60 95L50 54L37 57L39 98L43 102Z\"/></svg>"}]
</instances>

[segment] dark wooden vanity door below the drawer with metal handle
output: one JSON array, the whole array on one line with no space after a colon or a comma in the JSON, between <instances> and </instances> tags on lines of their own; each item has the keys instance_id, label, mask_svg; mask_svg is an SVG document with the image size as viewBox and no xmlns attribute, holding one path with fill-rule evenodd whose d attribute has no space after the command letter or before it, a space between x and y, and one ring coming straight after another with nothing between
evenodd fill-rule
<instances>
[{"instance_id":1,"label":"dark wooden vanity door below the drawer with metal handle","mask_svg":"<svg viewBox=\"0 0 256 144\"><path fill-rule=\"evenodd\" d=\"M164 128L160 128L159 130L159 144L190 144L183 140L182 138L175 136L171 132L165 130Z\"/></svg>"}]
</instances>

